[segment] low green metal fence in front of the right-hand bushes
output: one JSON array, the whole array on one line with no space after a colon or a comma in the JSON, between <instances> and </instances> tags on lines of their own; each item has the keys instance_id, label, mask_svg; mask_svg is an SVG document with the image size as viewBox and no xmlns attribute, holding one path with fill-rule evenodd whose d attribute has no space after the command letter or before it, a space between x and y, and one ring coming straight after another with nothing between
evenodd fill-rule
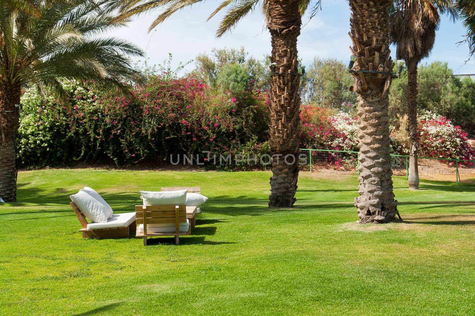
<instances>
[{"instance_id":1,"label":"low green metal fence in front of the right-hand bushes","mask_svg":"<svg viewBox=\"0 0 475 316\"><path fill-rule=\"evenodd\" d=\"M358 152L325 149L300 149L304 171L318 169L337 169L358 172ZM409 173L409 156L391 155L394 175L406 176ZM461 182L475 182L475 161L418 157L419 177L421 179Z\"/></svg>"}]
</instances>

